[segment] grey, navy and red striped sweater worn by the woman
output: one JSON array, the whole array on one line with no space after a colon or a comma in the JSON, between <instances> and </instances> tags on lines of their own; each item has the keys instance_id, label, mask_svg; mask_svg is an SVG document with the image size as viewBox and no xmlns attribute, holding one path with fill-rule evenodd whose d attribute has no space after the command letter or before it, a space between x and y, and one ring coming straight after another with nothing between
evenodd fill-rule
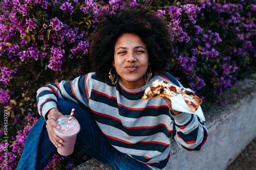
<instances>
[{"instance_id":1,"label":"grey, navy and red striped sweater worn by the woman","mask_svg":"<svg viewBox=\"0 0 256 170\"><path fill-rule=\"evenodd\" d=\"M144 90L157 79L183 87L169 73L153 76L138 89L127 89L120 80L113 86L100 81L93 72L39 88L38 112L45 118L51 108L57 108L59 98L85 105L114 148L152 169L166 169L172 139L180 148L198 152L207 143L208 131L196 115L171 115L161 97L141 99Z\"/></svg>"}]
</instances>

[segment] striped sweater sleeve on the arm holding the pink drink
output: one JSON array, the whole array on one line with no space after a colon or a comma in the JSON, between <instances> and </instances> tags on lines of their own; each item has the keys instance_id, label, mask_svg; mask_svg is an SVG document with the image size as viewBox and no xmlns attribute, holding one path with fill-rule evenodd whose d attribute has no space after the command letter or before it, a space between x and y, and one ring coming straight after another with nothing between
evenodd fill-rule
<instances>
[{"instance_id":1,"label":"striped sweater sleeve on the arm holding the pink drink","mask_svg":"<svg viewBox=\"0 0 256 170\"><path fill-rule=\"evenodd\" d=\"M69 100L89 107L89 80L90 73L81 75L70 81L49 83L37 90L37 109L44 119L46 113L57 108L58 99Z\"/></svg>"}]
</instances>

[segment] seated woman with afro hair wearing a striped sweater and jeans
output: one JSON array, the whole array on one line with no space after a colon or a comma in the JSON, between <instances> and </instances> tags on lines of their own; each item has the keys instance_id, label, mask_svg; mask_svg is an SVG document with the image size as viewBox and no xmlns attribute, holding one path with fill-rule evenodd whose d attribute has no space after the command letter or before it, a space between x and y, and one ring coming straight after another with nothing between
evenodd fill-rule
<instances>
[{"instance_id":1,"label":"seated woman with afro hair wearing a striped sweater and jeans","mask_svg":"<svg viewBox=\"0 0 256 170\"><path fill-rule=\"evenodd\" d=\"M173 110L168 98L141 99L157 79L182 86L165 73L173 52L166 25L145 6L105 15L90 39L95 72L37 90L42 117L26 139L18 169L48 163L63 142L52 130L59 128L56 118L72 108L81 125L76 146L113 169L165 169L171 139L188 151L202 150L208 133L196 115Z\"/></svg>"}]
</instances>

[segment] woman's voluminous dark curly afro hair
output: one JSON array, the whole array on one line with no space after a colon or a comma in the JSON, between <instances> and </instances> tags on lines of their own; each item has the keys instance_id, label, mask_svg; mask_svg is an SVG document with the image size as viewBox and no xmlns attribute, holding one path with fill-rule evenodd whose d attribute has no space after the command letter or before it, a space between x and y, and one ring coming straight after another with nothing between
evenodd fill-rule
<instances>
[{"instance_id":1,"label":"woman's voluminous dark curly afro hair","mask_svg":"<svg viewBox=\"0 0 256 170\"><path fill-rule=\"evenodd\" d=\"M109 79L108 73L113 67L114 45L123 33L137 34L143 40L149 52L153 75L169 70L173 45L166 20L156 16L149 5L125 6L118 13L100 17L89 38L90 62L98 79Z\"/></svg>"}]
</instances>

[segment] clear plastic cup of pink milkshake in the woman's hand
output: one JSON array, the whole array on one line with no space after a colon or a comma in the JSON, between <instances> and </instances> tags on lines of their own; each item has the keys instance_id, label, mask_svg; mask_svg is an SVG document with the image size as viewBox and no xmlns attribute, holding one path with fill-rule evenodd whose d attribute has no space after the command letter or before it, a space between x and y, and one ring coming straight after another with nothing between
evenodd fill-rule
<instances>
[{"instance_id":1,"label":"clear plastic cup of pink milkshake in the woman's hand","mask_svg":"<svg viewBox=\"0 0 256 170\"><path fill-rule=\"evenodd\" d=\"M61 129L53 128L53 132L63 140L62 147L57 148L58 153L63 156L73 153L77 134L80 132L80 125L75 117L72 117L69 128L66 130L69 117L70 116L68 115L59 117L56 121L60 125Z\"/></svg>"}]
</instances>

